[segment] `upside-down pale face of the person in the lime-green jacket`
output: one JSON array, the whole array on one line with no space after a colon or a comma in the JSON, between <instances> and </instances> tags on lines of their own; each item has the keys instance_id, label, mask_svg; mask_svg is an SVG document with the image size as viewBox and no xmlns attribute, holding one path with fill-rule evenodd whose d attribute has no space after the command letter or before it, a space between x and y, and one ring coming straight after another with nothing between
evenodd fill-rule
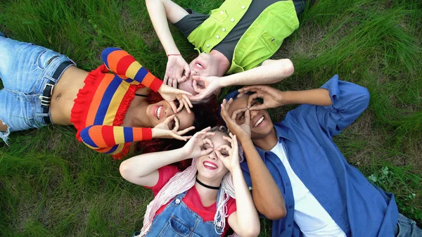
<instances>
[{"instance_id":1,"label":"upside-down pale face of the person in the lime-green jacket","mask_svg":"<svg viewBox=\"0 0 422 237\"><path fill-rule=\"evenodd\" d=\"M189 76L186 81L179 83L177 88L188 91L193 96L195 96L198 93L193 89L192 76L217 76L218 66L219 64L214 56L210 55L209 53L200 53L198 57L189 63L189 68L191 68L191 76ZM198 82L198 88L204 88L203 82Z\"/></svg>"}]
</instances>

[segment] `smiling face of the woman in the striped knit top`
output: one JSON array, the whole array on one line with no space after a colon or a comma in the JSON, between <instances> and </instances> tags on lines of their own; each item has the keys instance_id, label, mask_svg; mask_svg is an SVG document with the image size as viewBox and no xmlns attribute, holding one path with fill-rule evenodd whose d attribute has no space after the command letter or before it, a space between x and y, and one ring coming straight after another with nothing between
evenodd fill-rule
<instances>
[{"instance_id":1,"label":"smiling face of the woman in the striped knit top","mask_svg":"<svg viewBox=\"0 0 422 237\"><path fill-rule=\"evenodd\" d=\"M176 103L176 105L178 104ZM170 117L172 115L174 115L174 112L172 110L172 107L170 106L170 103L168 103L167 101L153 103L151 105L148 105L148 108L146 108L146 116L152 124L151 127L155 127L156 125L164 122L167 117ZM193 113L188 113L186 108L183 108L183 110L179 111L176 114L176 117L177 119L179 119L179 130L191 127L193 125L193 120L195 120L195 115L193 115ZM170 122L170 129L173 129L174 125L175 122L173 120L172 122Z\"/></svg>"}]
</instances>

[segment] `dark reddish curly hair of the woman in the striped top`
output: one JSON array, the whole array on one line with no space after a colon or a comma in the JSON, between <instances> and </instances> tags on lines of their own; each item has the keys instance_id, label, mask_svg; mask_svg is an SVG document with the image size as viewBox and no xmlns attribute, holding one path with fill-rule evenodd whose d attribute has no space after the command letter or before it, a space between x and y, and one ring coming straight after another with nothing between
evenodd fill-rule
<instances>
[{"instance_id":1,"label":"dark reddish curly hair of the woman in the striped top","mask_svg":"<svg viewBox=\"0 0 422 237\"><path fill-rule=\"evenodd\" d=\"M158 93L151 93L148 96L148 103L157 103L162 101L162 97ZM214 127L216 124L221 124L221 119L218 116L219 104L217 103L217 98L212 98L207 103L201 103L193 105L191 108L192 113L195 115L195 120L193 121L193 129L191 132L188 132L184 136L192 136L196 132L199 132L205 127ZM136 153L151 153L158 152L162 150L174 150L184 146L186 141L179 141L177 139L152 139L150 141L141 141L136 145ZM179 169L186 169L191 165L191 160L182 160L178 162L177 167Z\"/></svg>"}]
</instances>

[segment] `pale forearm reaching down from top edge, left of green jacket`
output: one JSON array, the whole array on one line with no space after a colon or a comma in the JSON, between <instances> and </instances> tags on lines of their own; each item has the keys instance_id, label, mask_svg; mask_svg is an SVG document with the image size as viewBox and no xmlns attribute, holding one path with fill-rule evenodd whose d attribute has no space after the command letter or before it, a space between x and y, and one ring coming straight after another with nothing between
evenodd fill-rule
<instances>
[{"instance_id":1,"label":"pale forearm reaching down from top edge, left of green jacket","mask_svg":"<svg viewBox=\"0 0 422 237\"><path fill-rule=\"evenodd\" d=\"M179 53L170 27L167 22L167 13L170 9L165 8L165 4L162 0L146 0L146 8L153 23L155 33L157 33L158 39L162 44L165 52L168 54Z\"/></svg>"}]
</instances>

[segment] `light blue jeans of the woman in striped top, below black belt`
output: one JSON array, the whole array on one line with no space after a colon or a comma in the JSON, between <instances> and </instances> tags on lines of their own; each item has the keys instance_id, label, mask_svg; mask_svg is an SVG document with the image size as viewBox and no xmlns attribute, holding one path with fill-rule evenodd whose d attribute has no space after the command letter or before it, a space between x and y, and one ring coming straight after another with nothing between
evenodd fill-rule
<instances>
[{"instance_id":1,"label":"light blue jeans of the woman in striped top, below black belt","mask_svg":"<svg viewBox=\"0 0 422 237\"><path fill-rule=\"evenodd\" d=\"M44 117L50 113L43 113L40 96L49 79L57 81L51 76L58 65L70 59L1 33L0 51L0 78L4 86L0 90L0 120L8 125L8 131L0 132L0 138L6 142L10 132L46 126Z\"/></svg>"}]
</instances>

